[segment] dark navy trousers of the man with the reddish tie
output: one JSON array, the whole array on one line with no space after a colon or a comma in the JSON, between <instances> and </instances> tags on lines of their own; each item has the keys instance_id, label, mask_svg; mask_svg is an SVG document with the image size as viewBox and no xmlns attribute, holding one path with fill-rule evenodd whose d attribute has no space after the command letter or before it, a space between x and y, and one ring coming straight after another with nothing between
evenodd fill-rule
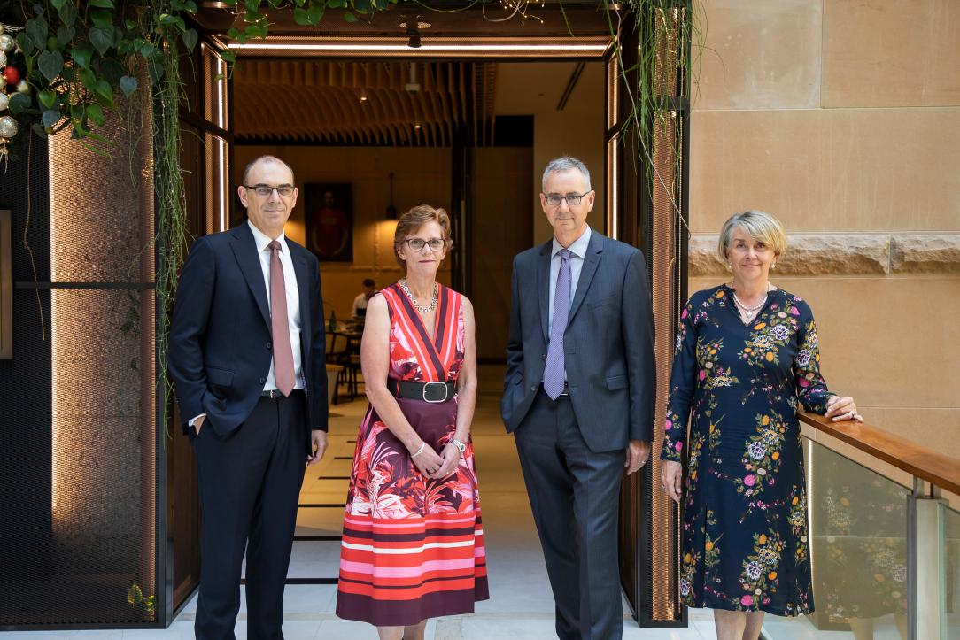
<instances>
[{"instance_id":1,"label":"dark navy trousers of the man with the reddish tie","mask_svg":"<svg viewBox=\"0 0 960 640\"><path fill-rule=\"evenodd\" d=\"M245 552L247 637L283 637L283 587L306 465L306 429L306 396L294 391L260 398L247 421L226 437L209 425L191 437L203 512L197 638L234 638Z\"/></svg>"}]
</instances>

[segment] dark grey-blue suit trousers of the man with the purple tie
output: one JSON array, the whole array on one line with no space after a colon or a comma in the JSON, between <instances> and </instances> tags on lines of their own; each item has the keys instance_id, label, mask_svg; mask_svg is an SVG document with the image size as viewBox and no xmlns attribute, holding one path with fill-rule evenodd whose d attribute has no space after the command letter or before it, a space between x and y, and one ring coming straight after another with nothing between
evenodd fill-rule
<instances>
[{"instance_id":1,"label":"dark grey-blue suit trousers of the man with the purple tie","mask_svg":"<svg viewBox=\"0 0 960 640\"><path fill-rule=\"evenodd\" d=\"M557 605L557 636L621 638L617 507L626 453L590 451L569 397L554 401L542 390L515 436Z\"/></svg>"}]
</instances>

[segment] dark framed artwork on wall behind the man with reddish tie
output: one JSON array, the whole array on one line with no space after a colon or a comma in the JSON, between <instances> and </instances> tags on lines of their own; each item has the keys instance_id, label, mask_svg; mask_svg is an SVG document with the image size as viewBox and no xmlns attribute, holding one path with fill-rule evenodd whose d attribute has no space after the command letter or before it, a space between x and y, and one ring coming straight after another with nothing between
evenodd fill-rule
<instances>
[{"instance_id":1,"label":"dark framed artwork on wall behind the man with reddish tie","mask_svg":"<svg viewBox=\"0 0 960 640\"><path fill-rule=\"evenodd\" d=\"M344 182L303 185L306 248L321 262L353 262L353 190Z\"/></svg>"}]
</instances>

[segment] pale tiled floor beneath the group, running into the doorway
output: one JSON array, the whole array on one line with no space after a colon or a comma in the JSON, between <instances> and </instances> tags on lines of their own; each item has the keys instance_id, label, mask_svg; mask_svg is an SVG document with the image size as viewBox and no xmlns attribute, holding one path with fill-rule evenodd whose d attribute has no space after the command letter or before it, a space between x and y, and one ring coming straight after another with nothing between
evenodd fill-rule
<instances>
[{"instance_id":1,"label":"pale tiled floor beneath the group, running into the doorway","mask_svg":"<svg viewBox=\"0 0 960 640\"><path fill-rule=\"evenodd\" d=\"M513 438L503 431L499 418L500 368L481 367L481 396L473 423L477 451L480 495L490 571L491 600L478 603L476 613L433 620L427 626L428 640L546 640L553 631L553 599L550 594L540 544L534 530L530 505L520 476ZM302 503L341 503L347 480L323 480L348 476L356 429L366 403L357 400L332 407L330 450L320 464L307 470ZM339 533L342 510L303 509L298 533ZM335 577L339 560L337 542L297 542L289 575L299 578ZM284 635L288 640L376 639L370 625L340 620L334 615L336 587L290 585L284 596ZM196 603L188 604L174 624L164 630L24 631L0 633L0 640L40 638L104 638L114 640L160 640L192 638ZM238 638L246 637L244 605L237 622ZM626 611L626 607L624 609ZM688 628L638 628L629 615L624 638L644 640L710 640L716 637L709 611L691 610ZM770 640L850 638L850 633L824 634L805 621L773 623ZM877 635L876 638L896 636Z\"/></svg>"}]
</instances>

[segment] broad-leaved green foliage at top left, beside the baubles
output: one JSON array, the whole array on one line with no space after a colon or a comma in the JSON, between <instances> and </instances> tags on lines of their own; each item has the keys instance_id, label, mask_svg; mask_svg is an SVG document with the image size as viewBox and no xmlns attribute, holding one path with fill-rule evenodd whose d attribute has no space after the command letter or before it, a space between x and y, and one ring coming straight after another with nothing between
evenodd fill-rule
<instances>
[{"instance_id":1,"label":"broad-leaved green foliage at top left, beside the baubles","mask_svg":"<svg viewBox=\"0 0 960 640\"><path fill-rule=\"evenodd\" d=\"M225 0L243 14L245 25L242 30L231 28L228 37L239 43L266 37L269 11L293 11L299 24L315 26L327 9L344 10L344 19L355 22L399 1ZM188 16L197 12L195 0L127 0L119 4L114 0L38 0L22 7L25 28L17 34L16 43L25 58L32 92L18 99L11 112L21 131L39 124L34 130L41 135L69 129L76 137L91 138L91 113L114 107L115 95L129 98L143 68L151 82L158 83L164 73L163 51L173 40L180 38L188 51L199 41L197 31L187 26ZM231 51L224 52L223 58L229 63L236 59ZM57 100L52 100L49 92L57 94ZM93 105L100 110L91 111L88 107Z\"/></svg>"}]
</instances>

